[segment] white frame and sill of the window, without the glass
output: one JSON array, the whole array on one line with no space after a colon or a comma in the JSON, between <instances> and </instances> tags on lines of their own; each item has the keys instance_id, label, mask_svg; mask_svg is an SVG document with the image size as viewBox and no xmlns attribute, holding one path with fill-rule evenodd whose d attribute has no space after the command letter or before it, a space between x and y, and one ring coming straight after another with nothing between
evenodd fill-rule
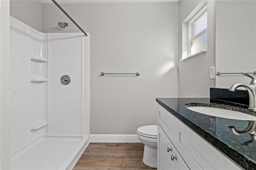
<instances>
[{"instance_id":1,"label":"white frame and sill of the window, without the glass","mask_svg":"<svg viewBox=\"0 0 256 170\"><path fill-rule=\"evenodd\" d=\"M196 8L188 15L188 17L182 22L182 59L180 61L184 61L188 58L194 57L200 53L206 52L207 48L199 51L193 55L191 55L191 46L192 41L197 37L205 34L207 32L207 28L202 30L202 32L198 33L194 36L194 23L200 19L207 12L207 1L201 1Z\"/></svg>"}]
</instances>

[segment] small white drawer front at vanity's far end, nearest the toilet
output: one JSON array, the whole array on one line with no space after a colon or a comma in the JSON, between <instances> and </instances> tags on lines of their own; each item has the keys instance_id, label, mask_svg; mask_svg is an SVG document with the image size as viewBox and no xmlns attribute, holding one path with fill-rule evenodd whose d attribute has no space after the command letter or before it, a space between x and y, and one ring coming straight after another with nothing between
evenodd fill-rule
<instances>
[{"instance_id":1,"label":"small white drawer front at vanity's far end, nearest the toilet","mask_svg":"<svg viewBox=\"0 0 256 170\"><path fill-rule=\"evenodd\" d=\"M158 111L158 123L166 132L167 136L170 138L170 140L174 139L174 119L175 117L168 112L166 109L164 109L159 104L157 105L157 111Z\"/></svg>"}]
</instances>

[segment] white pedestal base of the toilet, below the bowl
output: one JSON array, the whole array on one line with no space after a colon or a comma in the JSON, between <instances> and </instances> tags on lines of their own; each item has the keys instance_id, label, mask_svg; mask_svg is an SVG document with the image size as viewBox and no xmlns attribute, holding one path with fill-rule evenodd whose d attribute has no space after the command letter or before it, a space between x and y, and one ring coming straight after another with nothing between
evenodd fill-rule
<instances>
[{"instance_id":1,"label":"white pedestal base of the toilet, below the bowl","mask_svg":"<svg viewBox=\"0 0 256 170\"><path fill-rule=\"evenodd\" d=\"M152 168L157 168L157 149L144 145L143 163Z\"/></svg>"}]
</instances>

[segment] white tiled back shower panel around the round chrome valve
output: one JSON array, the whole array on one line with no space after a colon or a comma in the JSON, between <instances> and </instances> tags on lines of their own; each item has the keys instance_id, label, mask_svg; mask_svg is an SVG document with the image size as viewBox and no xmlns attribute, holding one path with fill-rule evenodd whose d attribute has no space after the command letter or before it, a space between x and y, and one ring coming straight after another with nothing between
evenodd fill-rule
<instances>
[{"instance_id":1,"label":"white tiled back shower panel around the round chrome valve","mask_svg":"<svg viewBox=\"0 0 256 170\"><path fill-rule=\"evenodd\" d=\"M82 136L82 36L49 34L50 136ZM62 75L70 84L62 85Z\"/></svg>"}]
</instances>

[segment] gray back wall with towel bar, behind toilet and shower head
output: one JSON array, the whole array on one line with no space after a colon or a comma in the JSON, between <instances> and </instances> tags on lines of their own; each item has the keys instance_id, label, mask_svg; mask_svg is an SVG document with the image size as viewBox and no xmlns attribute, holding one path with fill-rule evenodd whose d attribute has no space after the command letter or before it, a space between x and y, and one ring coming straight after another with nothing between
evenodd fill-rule
<instances>
[{"instance_id":1,"label":"gray back wall with towel bar, behind toilet and shower head","mask_svg":"<svg viewBox=\"0 0 256 170\"><path fill-rule=\"evenodd\" d=\"M156 125L156 97L178 97L178 2L61 6L90 33L91 134L136 134ZM42 32L80 30L54 4L42 4Z\"/></svg>"}]
</instances>

